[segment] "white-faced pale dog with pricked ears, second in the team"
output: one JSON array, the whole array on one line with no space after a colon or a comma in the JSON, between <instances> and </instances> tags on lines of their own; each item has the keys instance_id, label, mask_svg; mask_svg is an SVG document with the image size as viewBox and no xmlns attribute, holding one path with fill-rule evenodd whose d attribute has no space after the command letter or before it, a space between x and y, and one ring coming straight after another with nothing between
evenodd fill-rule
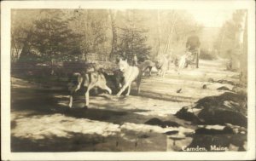
<instances>
[{"instance_id":1,"label":"white-faced pale dog with pricked ears, second in the team","mask_svg":"<svg viewBox=\"0 0 256 161\"><path fill-rule=\"evenodd\" d=\"M122 88L117 93L117 96L121 95L127 88L128 91L125 95L130 95L131 83L133 81L137 82L137 93L139 93L141 83L141 72L139 68L137 66L129 66L127 60L119 59L119 70L123 73L124 81L122 83Z\"/></svg>"}]
</instances>

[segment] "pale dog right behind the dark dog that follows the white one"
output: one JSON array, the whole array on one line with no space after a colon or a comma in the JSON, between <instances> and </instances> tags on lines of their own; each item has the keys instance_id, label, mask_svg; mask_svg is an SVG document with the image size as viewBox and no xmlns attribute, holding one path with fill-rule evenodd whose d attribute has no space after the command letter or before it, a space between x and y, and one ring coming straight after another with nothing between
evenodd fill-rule
<instances>
[{"instance_id":1,"label":"pale dog right behind the dark dog that follows the white one","mask_svg":"<svg viewBox=\"0 0 256 161\"><path fill-rule=\"evenodd\" d=\"M169 60L166 58L166 55L162 55L156 60L155 66L158 70L158 75L160 75L161 78L164 78L166 75L168 63Z\"/></svg>"}]
</instances>

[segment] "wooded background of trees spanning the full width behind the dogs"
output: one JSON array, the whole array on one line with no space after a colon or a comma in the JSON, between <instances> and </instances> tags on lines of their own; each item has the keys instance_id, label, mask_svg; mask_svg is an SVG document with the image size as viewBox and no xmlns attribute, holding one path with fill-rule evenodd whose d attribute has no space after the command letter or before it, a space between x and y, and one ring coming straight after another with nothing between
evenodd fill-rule
<instances>
[{"instance_id":1,"label":"wooded background of trees spanning the full width behind the dogs","mask_svg":"<svg viewBox=\"0 0 256 161\"><path fill-rule=\"evenodd\" d=\"M187 10L12 9L11 61L173 58L184 54L192 32L201 38L201 59L247 58L246 10L234 10L221 28L211 28Z\"/></svg>"}]
</instances>

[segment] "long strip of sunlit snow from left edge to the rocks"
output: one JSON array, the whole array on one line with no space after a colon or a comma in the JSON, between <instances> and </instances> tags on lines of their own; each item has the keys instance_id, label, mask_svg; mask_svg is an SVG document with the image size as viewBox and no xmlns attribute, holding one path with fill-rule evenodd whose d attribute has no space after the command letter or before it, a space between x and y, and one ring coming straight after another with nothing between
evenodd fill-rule
<instances>
[{"instance_id":1,"label":"long strip of sunlit snow from left edge to the rocks","mask_svg":"<svg viewBox=\"0 0 256 161\"><path fill-rule=\"evenodd\" d=\"M194 129L183 127L161 128L148 124L125 123L122 125L112 124L103 121L90 120L86 118L72 118L61 114L34 116L31 118L15 119L16 128L12 130L12 135L20 138L40 140L48 137L71 138L73 133L84 135L109 135L120 134L122 130L131 130L137 133L166 133L171 130L178 130L181 133L193 133ZM27 124L30 123L30 124ZM44 125L44 126L43 126ZM45 128L47 127L47 128Z\"/></svg>"}]
</instances>

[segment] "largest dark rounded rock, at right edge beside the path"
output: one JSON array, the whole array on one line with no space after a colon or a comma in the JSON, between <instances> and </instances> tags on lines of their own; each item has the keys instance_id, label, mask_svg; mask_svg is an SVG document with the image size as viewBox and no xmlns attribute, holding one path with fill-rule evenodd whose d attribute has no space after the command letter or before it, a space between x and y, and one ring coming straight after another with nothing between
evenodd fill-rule
<instances>
[{"instance_id":1,"label":"largest dark rounded rock, at right edge beside the path","mask_svg":"<svg viewBox=\"0 0 256 161\"><path fill-rule=\"evenodd\" d=\"M193 107L183 107L176 113L195 124L234 124L247 127L247 95L226 92L197 101Z\"/></svg>"}]
</instances>

